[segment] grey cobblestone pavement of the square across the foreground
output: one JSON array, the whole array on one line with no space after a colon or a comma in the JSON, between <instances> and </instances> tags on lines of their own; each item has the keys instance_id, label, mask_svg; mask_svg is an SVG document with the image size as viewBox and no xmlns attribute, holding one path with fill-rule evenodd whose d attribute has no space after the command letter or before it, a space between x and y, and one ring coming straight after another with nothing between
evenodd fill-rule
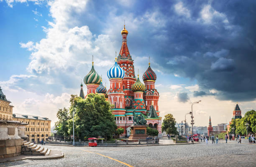
<instances>
[{"instance_id":1,"label":"grey cobblestone pavement of the square across the foreground","mask_svg":"<svg viewBox=\"0 0 256 167\"><path fill-rule=\"evenodd\" d=\"M212 145L210 142L208 145L199 143L195 145L148 147L65 147L48 145L47 147L51 150L63 150L64 158L58 160L22 160L0 163L0 167L127 166L120 162L125 162L134 167L184 167L192 165L196 167L256 166L256 144L247 144L245 140L242 141L242 144L238 144L236 141L228 141L227 144L224 141L220 141L218 145Z\"/></svg>"}]
</instances>

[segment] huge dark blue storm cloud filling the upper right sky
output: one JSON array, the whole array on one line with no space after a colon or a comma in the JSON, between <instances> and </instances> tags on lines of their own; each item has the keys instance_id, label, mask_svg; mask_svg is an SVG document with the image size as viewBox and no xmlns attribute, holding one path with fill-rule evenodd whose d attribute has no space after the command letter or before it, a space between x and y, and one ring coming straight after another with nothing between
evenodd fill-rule
<instances>
[{"instance_id":1,"label":"huge dark blue storm cloud filling the upper right sky","mask_svg":"<svg viewBox=\"0 0 256 167\"><path fill-rule=\"evenodd\" d=\"M256 1L184 0L154 5L166 25L155 30L143 25L135 36L141 41L132 46L133 54L157 55L154 60L161 67L155 69L196 79L201 90L218 90L218 99L256 98Z\"/></svg>"}]
</instances>

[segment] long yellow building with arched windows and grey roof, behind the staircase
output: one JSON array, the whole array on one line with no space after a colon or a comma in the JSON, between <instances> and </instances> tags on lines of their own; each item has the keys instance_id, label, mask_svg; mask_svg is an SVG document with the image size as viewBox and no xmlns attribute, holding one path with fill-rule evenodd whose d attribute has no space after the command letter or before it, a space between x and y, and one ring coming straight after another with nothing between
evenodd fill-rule
<instances>
[{"instance_id":1,"label":"long yellow building with arched windows and grey roof, behind the staircase","mask_svg":"<svg viewBox=\"0 0 256 167\"><path fill-rule=\"evenodd\" d=\"M28 124L25 134L30 142L46 141L51 136L51 120L46 117L13 113L13 120Z\"/></svg>"}]
</instances>

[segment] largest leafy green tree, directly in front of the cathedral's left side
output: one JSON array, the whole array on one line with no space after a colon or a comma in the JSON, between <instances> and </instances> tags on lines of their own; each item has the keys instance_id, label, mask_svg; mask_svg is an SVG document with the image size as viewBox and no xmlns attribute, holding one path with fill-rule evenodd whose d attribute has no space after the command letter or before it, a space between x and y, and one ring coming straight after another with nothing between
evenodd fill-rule
<instances>
[{"instance_id":1,"label":"largest leafy green tree, directly in front of the cathedral's left side","mask_svg":"<svg viewBox=\"0 0 256 167\"><path fill-rule=\"evenodd\" d=\"M79 139L103 136L105 140L108 140L112 137L117 126L110 111L110 103L105 100L103 95L89 94L86 99L72 98L70 111L71 114L74 110L76 111L74 116L75 134ZM70 132L72 132L71 127L69 126Z\"/></svg>"}]
</instances>

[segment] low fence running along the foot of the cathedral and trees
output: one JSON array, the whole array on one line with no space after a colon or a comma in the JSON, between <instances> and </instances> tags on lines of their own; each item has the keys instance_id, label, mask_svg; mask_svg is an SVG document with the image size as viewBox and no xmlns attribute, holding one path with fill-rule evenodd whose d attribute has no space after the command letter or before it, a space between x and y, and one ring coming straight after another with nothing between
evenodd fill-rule
<instances>
[{"instance_id":1,"label":"low fence running along the foot of the cathedral and trees","mask_svg":"<svg viewBox=\"0 0 256 167\"><path fill-rule=\"evenodd\" d=\"M73 145L73 142L67 142L62 139L56 139L54 141L48 140L49 144L57 144L57 145ZM87 146L89 142L86 141L79 141L75 142L75 145L77 146ZM118 145L157 145L159 144L159 139L156 140L143 140L143 139L138 139L138 140L115 140L115 141L110 141L110 142L105 142L105 141L98 141L97 145L102 146L102 147L108 147L108 146L118 146Z\"/></svg>"}]
</instances>

